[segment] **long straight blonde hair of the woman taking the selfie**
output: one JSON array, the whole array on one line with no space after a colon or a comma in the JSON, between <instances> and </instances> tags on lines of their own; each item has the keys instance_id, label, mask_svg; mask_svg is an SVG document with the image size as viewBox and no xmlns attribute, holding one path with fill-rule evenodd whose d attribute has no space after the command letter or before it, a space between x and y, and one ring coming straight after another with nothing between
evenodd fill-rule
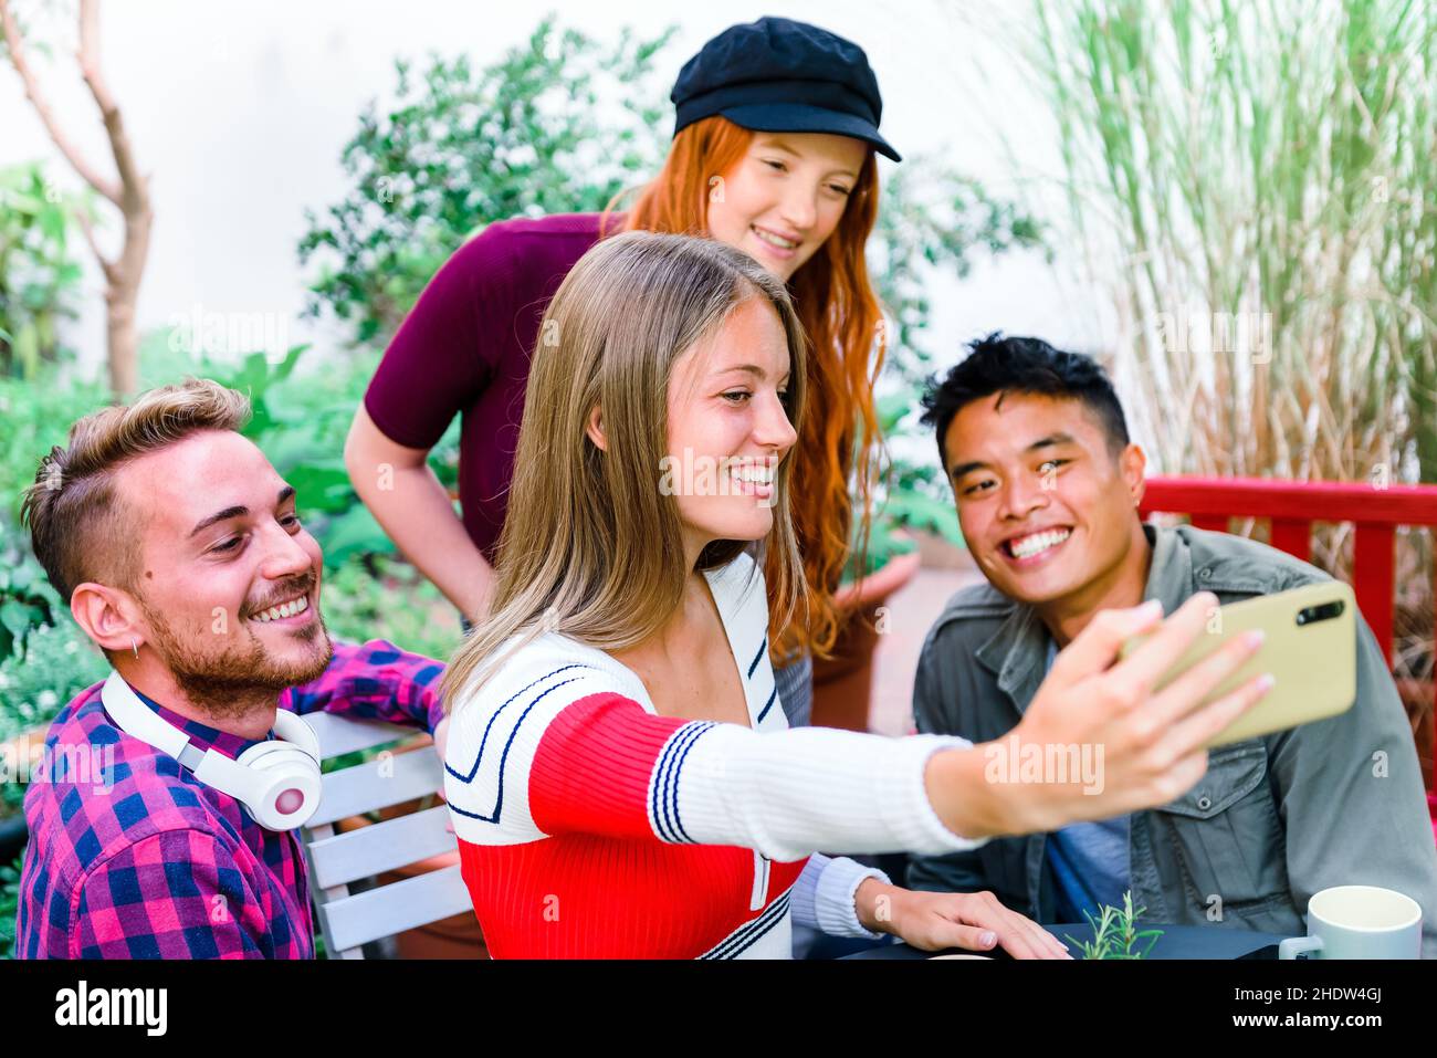
<instances>
[{"instance_id":1,"label":"long straight blonde hair of the woman taking the selfie","mask_svg":"<svg viewBox=\"0 0 1437 1058\"><path fill-rule=\"evenodd\" d=\"M783 283L740 250L690 236L631 231L598 242L549 302L529 371L490 617L444 677L445 710L512 651L547 631L599 650L648 638L678 610L684 566L677 499L660 487L674 362L752 299L787 336L789 415L803 417L803 325ZM605 450L586 434L601 410ZM786 624L803 598L789 513L792 459L775 477L766 546L769 599ZM731 562L750 540L714 540L697 568ZM752 552L750 552L752 553Z\"/></svg>"}]
</instances>

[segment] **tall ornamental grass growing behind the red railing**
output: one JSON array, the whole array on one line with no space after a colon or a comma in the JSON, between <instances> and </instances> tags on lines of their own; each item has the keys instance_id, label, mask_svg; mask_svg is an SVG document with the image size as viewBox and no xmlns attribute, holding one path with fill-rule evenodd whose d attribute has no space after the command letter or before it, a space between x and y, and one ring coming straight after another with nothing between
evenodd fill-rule
<instances>
[{"instance_id":1,"label":"tall ornamental grass growing behind the red railing","mask_svg":"<svg viewBox=\"0 0 1437 1058\"><path fill-rule=\"evenodd\" d=\"M1437 483L1437 6L1033 13L1025 69L1155 470ZM1323 530L1316 561L1345 572L1349 551ZM1414 533L1398 558L1424 673L1428 553Z\"/></svg>"}]
</instances>

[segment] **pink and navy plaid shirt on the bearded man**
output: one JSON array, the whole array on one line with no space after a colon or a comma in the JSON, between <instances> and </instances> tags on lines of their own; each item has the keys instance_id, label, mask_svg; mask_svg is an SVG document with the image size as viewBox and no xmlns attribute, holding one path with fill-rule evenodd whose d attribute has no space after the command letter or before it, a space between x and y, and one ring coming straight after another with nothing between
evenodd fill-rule
<instances>
[{"instance_id":1,"label":"pink and navy plaid shirt on the bearded man","mask_svg":"<svg viewBox=\"0 0 1437 1058\"><path fill-rule=\"evenodd\" d=\"M444 667L391 643L335 644L313 683L280 694L433 732ZM295 831L260 827L239 801L122 733L95 684L46 736L49 773L24 798L17 959L312 959L309 878ZM200 749L254 742L148 702Z\"/></svg>"}]
</instances>

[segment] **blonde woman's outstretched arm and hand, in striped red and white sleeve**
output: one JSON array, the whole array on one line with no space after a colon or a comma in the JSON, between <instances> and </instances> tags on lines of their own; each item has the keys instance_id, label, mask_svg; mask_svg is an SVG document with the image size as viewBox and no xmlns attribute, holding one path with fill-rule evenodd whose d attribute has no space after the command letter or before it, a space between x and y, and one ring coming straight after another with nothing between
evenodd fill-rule
<instances>
[{"instance_id":1,"label":"blonde woman's outstretched arm and hand, in striped red and white sleeve","mask_svg":"<svg viewBox=\"0 0 1437 1058\"><path fill-rule=\"evenodd\" d=\"M1101 781L1009 781L993 750L934 735L888 739L832 729L757 733L648 713L625 670L598 651L532 656L453 714L447 794L460 838L513 844L586 832L740 845L775 860L816 850L951 852L999 834L1055 829L1160 805L1207 766L1203 745L1252 706L1255 680L1203 697L1256 650L1237 641L1163 693L1152 687L1203 634L1210 595L1190 599L1131 657L1124 641L1161 614L1101 614L1053 664L1016 729L1020 743L1094 745ZM1026 776L1025 776L1026 778Z\"/></svg>"}]
</instances>

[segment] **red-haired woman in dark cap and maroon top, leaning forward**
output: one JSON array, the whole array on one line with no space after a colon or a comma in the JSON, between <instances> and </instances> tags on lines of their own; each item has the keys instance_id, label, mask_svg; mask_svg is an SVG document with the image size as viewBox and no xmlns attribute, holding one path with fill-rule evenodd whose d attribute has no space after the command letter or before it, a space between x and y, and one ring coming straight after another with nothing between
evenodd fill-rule
<instances>
[{"instance_id":1,"label":"red-haired woman in dark cap and maroon top, leaning forward","mask_svg":"<svg viewBox=\"0 0 1437 1058\"><path fill-rule=\"evenodd\" d=\"M802 724L809 658L826 656L839 628L849 479L861 497L871 480L882 348L864 244L878 210L874 154L898 154L878 132L882 101L864 50L787 19L720 33L684 65L671 98L668 160L627 214L490 224L440 269L375 372L345 460L405 556L463 614L483 617L530 354L559 282L621 230L707 234L744 250L789 286L810 342L810 415L793 454L806 592L799 618L770 635L783 712ZM456 415L463 520L425 463Z\"/></svg>"}]
</instances>

